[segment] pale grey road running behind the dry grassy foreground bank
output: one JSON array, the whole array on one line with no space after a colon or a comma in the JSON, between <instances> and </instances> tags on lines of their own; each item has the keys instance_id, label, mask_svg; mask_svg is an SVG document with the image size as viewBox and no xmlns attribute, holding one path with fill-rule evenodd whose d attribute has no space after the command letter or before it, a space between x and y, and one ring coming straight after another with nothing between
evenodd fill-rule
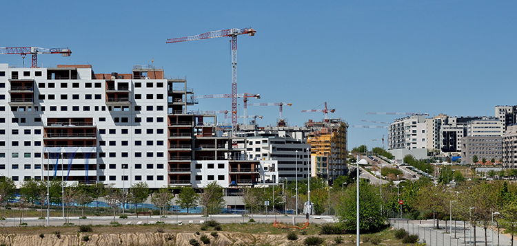
<instances>
[{"instance_id":1,"label":"pale grey road running behind the dry grassy foreground bank","mask_svg":"<svg viewBox=\"0 0 517 246\"><path fill-rule=\"evenodd\" d=\"M283 214L277 214L276 215L276 221L281 223L292 223L292 215L284 216ZM210 219L214 219L219 223L242 223L247 222L250 217L249 216L242 216L241 214L214 214L210 215L208 218L203 217L199 214L188 214L188 215L168 215L165 218L161 218L161 221L167 223L167 224L176 224L177 222L187 224L187 223L203 223L202 221L208 221ZM265 214L254 214L253 219L257 223L273 223L275 216L274 214L268 214L267 216ZM117 215L115 217L115 220L118 223L121 224L131 224L131 225L141 225L145 223L154 224L156 221L160 221L159 216L139 216L136 218L136 216L128 216L128 219L119 219L119 216ZM311 223L332 223L335 220L335 216L317 216L313 215L311 216ZM73 223L74 225L85 225L85 224L91 224L91 225L109 225L110 222L113 221L113 216L94 216L94 217L88 217L88 219L79 219L77 216L70 217L70 223ZM23 222L27 223L28 226L41 226L41 225L47 225L47 221L43 219L37 219L35 217L25 218L23 219ZM20 223L20 218L8 218L6 226L18 226ZM65 219L59 217L51 217L49 221L49 225L52 226L60 226L65 223ZM298 215L296 216L296 223L305 223L305 216L304 215Z\"/></svg>"}]
</instances>

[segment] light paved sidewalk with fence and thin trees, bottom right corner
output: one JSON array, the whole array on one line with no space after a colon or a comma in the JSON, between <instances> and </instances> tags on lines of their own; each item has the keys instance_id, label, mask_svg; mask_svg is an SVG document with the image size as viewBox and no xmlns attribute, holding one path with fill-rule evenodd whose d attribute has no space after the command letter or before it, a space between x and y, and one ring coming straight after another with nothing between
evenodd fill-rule
<instances>
[{"instance_id":1,"label":"light paved sidewalk with fence and thin trees, bottom right corner","mask_svg":"<svg viewBox=\"0 0 517 246\"><path fill-rule=\"evenodd\" d=\"M417 234L420 238L420 243L425 242L429 246L460 246L460 245L474 245L474 232L472 227L469 227L467 223L465 237L463 236L463 221L456 221L456 236L454 238L454 221L452 221L452 228L447 221L447 233L445 233L445 221L440 221L440 230L434 229L433 220L425 221L413 221L408 219L389 219L389 223L392 223L394 228L403 228L409 234ZM452 234L450 230L452 229ZM471 235L472 232L472 235ZM472 239L471 239L472 238ZM494 238L492 238L492 231L487 229L487 244L492 245L492 239L494 239L494 245L510 246L511 238L503 234L499 235L499 244L497 232L494 232ZM485 245L485 230L483 227L476 227L476 245ZM464 243L465 242L465 243ZM517 242L514 240L514 242Z\"/></svg>"}]
</instances>

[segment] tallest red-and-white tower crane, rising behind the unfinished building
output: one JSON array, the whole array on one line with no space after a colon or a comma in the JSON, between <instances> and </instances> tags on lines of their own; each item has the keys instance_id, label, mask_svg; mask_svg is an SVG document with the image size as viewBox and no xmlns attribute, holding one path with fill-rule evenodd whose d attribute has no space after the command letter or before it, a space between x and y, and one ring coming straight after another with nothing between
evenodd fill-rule
<instances>
[{"instance_id":1,"label":"tallest red-and-white tower crane, rising behind the unfinished building","mask_svg":"<svg viewBox=\"0 0 517 246\"><path fill-rule=\"evenodd\" d=\"M248 34L255 36L256 31L252 27L243 29L232 28L226 30L205 32L194 36L185 36L182 38L168 38L165 43L179 43L185 41L201 40L206 38L220 38L229 36L232 38L232 126L237 124L237 36Z\"/></svg>"}]
</instances>

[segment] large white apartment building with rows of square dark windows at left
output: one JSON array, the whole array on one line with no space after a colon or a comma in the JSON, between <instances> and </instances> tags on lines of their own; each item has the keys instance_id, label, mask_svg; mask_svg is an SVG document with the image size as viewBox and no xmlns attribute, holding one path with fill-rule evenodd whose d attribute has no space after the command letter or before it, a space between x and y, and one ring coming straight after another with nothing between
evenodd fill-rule
<instances>
[{"instance_id":1,"label":"large white apartment building with rows of square dark windows at left","mask_svg":"<svg viewBox=\"0 0 517 246\"><path fill-rule=\"evenodd\" d=\"M167 132L163 69L94 74L90 65L0 64L0 175L17 185L48 176L166 186Z\"/></svg>"}]
</instances>

